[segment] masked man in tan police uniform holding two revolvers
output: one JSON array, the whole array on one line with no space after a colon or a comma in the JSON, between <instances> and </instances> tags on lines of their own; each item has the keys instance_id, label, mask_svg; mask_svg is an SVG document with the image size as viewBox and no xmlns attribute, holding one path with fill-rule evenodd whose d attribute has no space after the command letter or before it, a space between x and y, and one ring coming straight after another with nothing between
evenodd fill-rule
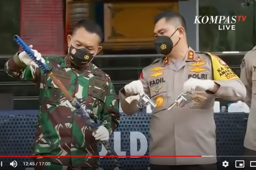
<instances>
[{"instance_id":1,"label":"masked man in tan police uniform holding two revolvers","mask_svg":"<svg viewBox=\"0 0 256 170\"><path fill-rule=\"evenodd\" d=\"M214 98L242 100L246 89L219 57L188 47L181 15L161 13L155 23L155 48L166 57L155 60L142 70L140 80L120 90L121 107L128 115L136 113L137 100L129 103L125 99L137 94L145 93L155 101L157 107L150 122L150 155L215 156ZM167 110L182 92L195 91L207 99ZM150 164L151 170L215 170L216 157L151 157Z\"/></svg>"}]
</instances>

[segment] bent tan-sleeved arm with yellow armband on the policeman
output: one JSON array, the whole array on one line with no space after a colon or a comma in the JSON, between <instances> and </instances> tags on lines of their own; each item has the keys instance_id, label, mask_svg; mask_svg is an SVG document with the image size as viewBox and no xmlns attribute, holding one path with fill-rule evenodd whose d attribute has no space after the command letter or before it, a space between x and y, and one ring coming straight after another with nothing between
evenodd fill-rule
<instances>
[{"instance_id":1,"label":"bent tan-sleeved arm with yellow armband on the policeman","mask_svg":"<svg viewBox=\"0 0 256 170\"><path fill-rule=\"evenodd\" d=\"M238 101L246 96L246 89L239 77L221 58L211 55L213 80L219 86L215 95L218 98Z\"/></svg>"}]
</instances>

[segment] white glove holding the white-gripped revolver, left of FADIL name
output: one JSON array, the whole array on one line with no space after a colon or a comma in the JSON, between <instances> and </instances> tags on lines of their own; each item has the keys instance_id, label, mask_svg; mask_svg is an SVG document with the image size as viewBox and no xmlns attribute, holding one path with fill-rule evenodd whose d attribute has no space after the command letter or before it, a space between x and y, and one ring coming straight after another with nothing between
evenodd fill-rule
<instances>
[{"instance_id":1,"label":"white glove holding the white-gripped revolver, left of FADIL name","mask_svg":"<svg viewBox=\"0 0 256 170\"><path fill-rule=\"evenodd\" d=\"M129 94L134 94L134 95L137 95L137 94L143 95L144 89L143 89L142 82L140 80L136 80L125 85L125 92Z\"/></svg>"}]
</instances>

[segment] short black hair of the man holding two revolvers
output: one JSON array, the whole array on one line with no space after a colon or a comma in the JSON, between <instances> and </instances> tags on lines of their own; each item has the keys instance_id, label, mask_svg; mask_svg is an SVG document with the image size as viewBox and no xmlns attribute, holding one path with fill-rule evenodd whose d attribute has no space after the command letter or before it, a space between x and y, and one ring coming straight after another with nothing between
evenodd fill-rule
<instances>
[{"instance_id":1,"label":"short black hair of the man holding two revolvers","mask_svg":"<svg viewBox=\"0 0 256 170\"><path fill-rule=\"evenodd\" d=\"M155 24L162 18L166 18L166 21L172 20L172 19L177 19L180 22L180 26L182 26L185 31L186 31L186 21L184 19L183 16L181 16L181 14L176 13L176 12L162 12L157 14L157 16L155 17Z\"/></svg>"}]
</instances>

